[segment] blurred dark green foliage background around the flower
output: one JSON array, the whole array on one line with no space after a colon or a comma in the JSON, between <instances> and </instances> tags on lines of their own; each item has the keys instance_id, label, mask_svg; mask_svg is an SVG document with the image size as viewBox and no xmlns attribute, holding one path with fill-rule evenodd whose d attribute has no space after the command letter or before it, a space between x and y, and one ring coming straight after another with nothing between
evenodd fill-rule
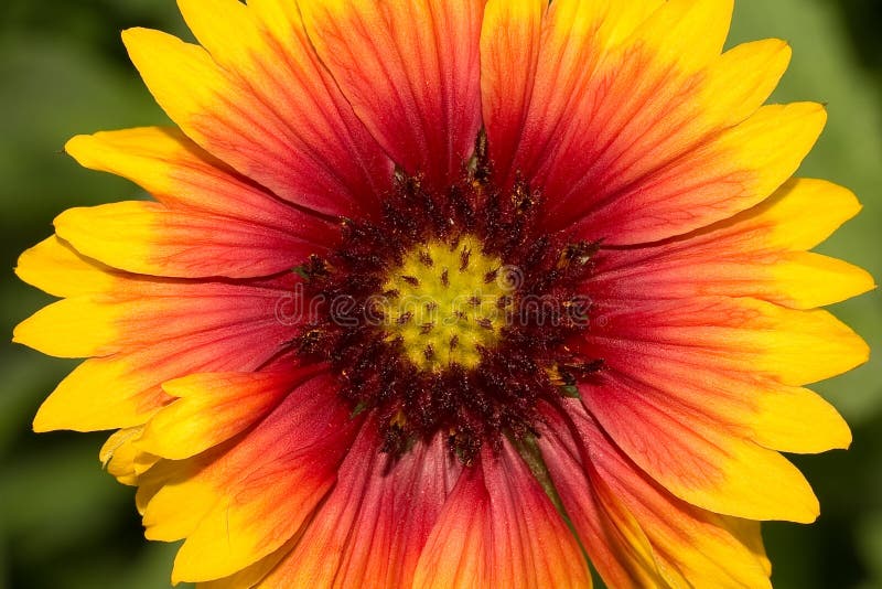
<instances>
[{"instance_id":1,"label":"blurred dark green foliage background around the flower","mask_svg":"<svg viewBox=\"0 0 882 589\"><path fill-rule=\"evenodd\" d=\"M186 35L172 0L7 0L0 4L2 325L49 298L12 277L18 254L66 207L139 197L61 153L79 132L166 120L128 63L119 31ZM863 213L822 246L882 276L882 0L741 0L730 43L777 36L794 61L775 101L819 100L830 121L803 175L854 190ZM878 292L835 312L882 350ZM848 452L797 457L820 497L813 526L770 524L778 588L882 588L882 362L817 388L854 431ZM0 351L0 588L169 586L173 546L143 540L133 491L100 470L104 436L35 436L41 399L73 363Z\"/></svg>"}]
</instances>

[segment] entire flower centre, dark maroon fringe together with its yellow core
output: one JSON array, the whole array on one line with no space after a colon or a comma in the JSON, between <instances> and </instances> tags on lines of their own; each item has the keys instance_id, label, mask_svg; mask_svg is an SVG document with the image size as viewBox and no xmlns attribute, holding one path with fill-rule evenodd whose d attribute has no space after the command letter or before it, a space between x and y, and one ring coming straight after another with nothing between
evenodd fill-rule
<instances>
[{"instance_id":1,"label":"entire flower centre, dark maroon fringe together with its yellow core","mask_svg":"<svg viewBox=\"0 0 882 589\"><path fill-rule=\"evenodd\" d=\"M397 174L378 217L342 219L340 248L298 268L312 311L292 344L392 454L442 435L470 464L600 367L568 345L589 329L594 245L546 232L541 195L495 185L484 147L445 190Z\"/></svg>"}]
</instances>

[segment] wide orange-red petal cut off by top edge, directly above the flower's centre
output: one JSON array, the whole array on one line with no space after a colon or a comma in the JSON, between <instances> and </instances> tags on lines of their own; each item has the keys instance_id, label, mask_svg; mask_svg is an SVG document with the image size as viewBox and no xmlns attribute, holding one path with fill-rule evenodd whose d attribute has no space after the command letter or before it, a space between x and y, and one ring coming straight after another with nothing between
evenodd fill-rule
<instances>
[{"instance_id":1,"label":"wide orange-red petal cut off by top edge, directly above the flower's centre","mask_svg":"<svg viewBox=\"0 0 882 589\"><path fill-rule=\"evenodd\" d=\"M406 172L452 183L481 125L480 0L300 1L315 51Z\"/></svg>"}]
</instances>

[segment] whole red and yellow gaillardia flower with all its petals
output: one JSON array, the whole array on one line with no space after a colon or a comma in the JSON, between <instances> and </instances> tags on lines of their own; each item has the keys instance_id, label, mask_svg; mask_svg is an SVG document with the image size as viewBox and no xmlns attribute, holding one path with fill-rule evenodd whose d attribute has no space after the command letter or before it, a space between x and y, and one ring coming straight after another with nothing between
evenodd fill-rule
<instances>
[{"instance_id":1,"label":"whole red and yellow gaillardia flower with all its petals","mask_svg":"<svg viewBox=\"0 0 882 589\"><path fill-rule=\"evenodd\" d=\"M811 522L779 452L850 442L804 385L867 360L732 0L179 0L123 33L180 130L72 139L155 201L73 208L15 340L86 357L37 431L117 430L172 578L206 588L768 587Z\"/></svg>"}]
</instances>

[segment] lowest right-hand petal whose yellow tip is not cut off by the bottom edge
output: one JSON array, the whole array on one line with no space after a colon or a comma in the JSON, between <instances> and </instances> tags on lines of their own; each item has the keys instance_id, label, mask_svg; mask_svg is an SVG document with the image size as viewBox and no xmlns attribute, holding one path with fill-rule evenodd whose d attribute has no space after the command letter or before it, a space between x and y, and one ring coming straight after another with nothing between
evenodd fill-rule
<instances>
[{"instance_id":1,"label":"lowest right-hand petal whose yellow tip is not cut off by the bottom edge","mask_svg":"<svg viewBox=\"0 0 882 589\"><path fill-rule=\"evenodd\" d=\"M659 400L660 392L613 377L602 388L600 394L591 392L589 410L616 445L674 495L738 517L810 523L818 516L808 483L777 452L724 425L699 421L700 413L678 408L676 398ZM662 415L666 409L679 410L668 417Z\"/></svg>"}]
</instances>

